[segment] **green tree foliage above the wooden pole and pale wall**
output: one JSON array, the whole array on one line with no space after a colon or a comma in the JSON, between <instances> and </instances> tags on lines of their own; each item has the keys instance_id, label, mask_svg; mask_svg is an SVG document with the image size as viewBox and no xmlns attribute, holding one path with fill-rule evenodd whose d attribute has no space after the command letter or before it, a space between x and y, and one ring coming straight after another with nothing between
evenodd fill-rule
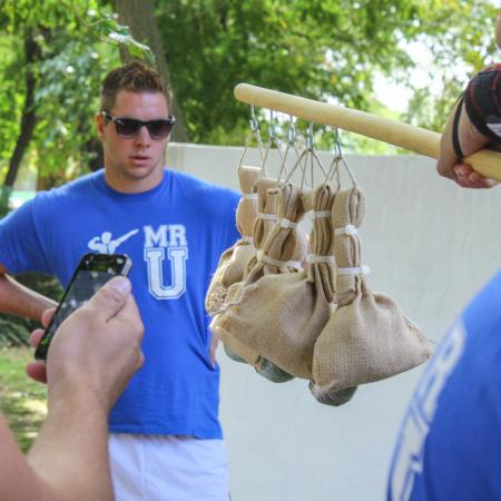
<instances>
[{"instance_id":1,"label":"green tree foliage above the wooden pole and pale wall","mask_svg":"<svg viewBox=\"0 0 501 501\"><path fill-rule=\"evenodd\" d=\"M431 47L436 67L480 68L493 50L488 0L157 1L171 79L194 141L240 144L248 109L239 81L372 111L375 72L413 88L409 43ZM450 80L442 108L451 105ZM458 89L458 85L455 85ZM419 89L418 89L419 90ZM416 90L409 119L431 120ZM436 99L436 98L435 98ZM446 104L446 106L445 106ZM414 121L415 121L414 120Z\"/></svg>"}]
</instances>

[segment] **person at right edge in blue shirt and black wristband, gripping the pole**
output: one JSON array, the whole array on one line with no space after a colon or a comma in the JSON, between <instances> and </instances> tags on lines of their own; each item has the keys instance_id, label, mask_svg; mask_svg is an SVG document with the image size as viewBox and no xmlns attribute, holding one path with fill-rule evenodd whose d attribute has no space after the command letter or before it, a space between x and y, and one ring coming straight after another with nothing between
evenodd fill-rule
<instances>
[{"instance_id":1,"label":"person at right edge in blue shirt and black wristband, gripping the pole","mask_svg":"<svg viewBox=\"0 0 501 501\"><path fill-rule=\"evenodd\" d=\"M497 23L501 47L501 10ZM501 145L501 66L478 73L441 139L438 171L465 188L498 183L464 156ZM400 430L387 501L501 501L501 272L430 361Z\"/></svg>"}]
</instances>

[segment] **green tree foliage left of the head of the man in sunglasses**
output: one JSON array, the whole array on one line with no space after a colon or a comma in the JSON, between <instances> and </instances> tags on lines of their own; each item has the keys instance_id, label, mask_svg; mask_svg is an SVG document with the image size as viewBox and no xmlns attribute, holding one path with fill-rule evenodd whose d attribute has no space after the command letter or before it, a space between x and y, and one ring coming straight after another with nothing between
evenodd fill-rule
<instances>
[{"instance_id":1,"label":"green tree foliage left of the head of the man in sunglasses","mask_svg":"<svg viewBox=\"0 0 501 501\"><path fill-rule=\"evenodd\" d=\"M27 63L26 41L40 52ZM26 105L26 75L35 78L35 131L29 146L42 186L63 183L96 161L92 115L99 85L119 63L116 48L145 57L148 48L117 23L111 9L97 0L3 0L0 14L0 161L11 159ZM26 153L26 151L24 151ZM99 160L98 160L99 163ZM6 167L4 169L6 170Z\"/></svg>"}]
</instances>

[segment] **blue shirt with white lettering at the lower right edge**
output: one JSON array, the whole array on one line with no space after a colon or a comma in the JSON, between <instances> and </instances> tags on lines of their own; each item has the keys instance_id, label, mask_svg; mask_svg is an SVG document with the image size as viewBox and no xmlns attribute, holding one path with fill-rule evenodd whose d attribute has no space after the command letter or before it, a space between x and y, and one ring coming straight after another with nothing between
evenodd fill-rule
<instances>
[{"instance_id":1,"label":"blue shirt with white lettering at the lower right edge","mask_svg":"<svg viewBox=\"0 0 501 501\"><path fill-rule=\"evenodd\" d=\"M501 272L426 367L396 442L387 500L501 500Z\"/></svg>"}]
</instances>

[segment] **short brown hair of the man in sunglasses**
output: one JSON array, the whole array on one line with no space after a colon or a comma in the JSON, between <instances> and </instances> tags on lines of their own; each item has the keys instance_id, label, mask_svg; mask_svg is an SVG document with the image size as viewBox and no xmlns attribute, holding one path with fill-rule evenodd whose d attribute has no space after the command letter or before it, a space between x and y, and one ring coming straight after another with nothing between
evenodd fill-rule
<instances>
[{"instance_id":1,"label":"short brown hair of the man in sunglasses","mask_svg":"<svg viewBox=\"0 0 501 501\"><path fill-rule=\"evenodd\" d=\"M170 92L158 71L141 61L132 60L111 70L101 86L101 110L110 111L115 106L119 90L132 92L161 92L167 106L170 105Z\"/></svg>"}]
</instances>

